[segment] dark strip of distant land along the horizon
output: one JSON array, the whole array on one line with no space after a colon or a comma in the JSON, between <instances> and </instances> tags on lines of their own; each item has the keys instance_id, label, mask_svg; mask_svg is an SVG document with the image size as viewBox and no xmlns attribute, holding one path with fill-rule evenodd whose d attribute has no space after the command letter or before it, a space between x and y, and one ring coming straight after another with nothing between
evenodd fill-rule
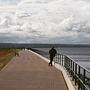
<instances>
[{"instance_id":1,"label":"dark strip of distant land along the horizon","mask_svg":"<svg viewBox=\"0 0 90 90\"><path fill-rule=\"evenodd\" d=\"M51 47L90 47L88 44L40 44L40 43L0 43L0 48L51 48Z\"/></svg>"}]
</instances>

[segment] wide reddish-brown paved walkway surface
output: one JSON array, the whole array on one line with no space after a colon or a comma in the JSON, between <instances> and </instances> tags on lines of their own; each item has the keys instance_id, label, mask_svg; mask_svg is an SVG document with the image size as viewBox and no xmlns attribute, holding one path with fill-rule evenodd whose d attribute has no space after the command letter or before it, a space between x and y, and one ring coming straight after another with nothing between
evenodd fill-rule
<instances>
[{"instance_id":1,"label":"wide reddish-brown paved walkway surface","mask_svg":"<svg viewBox=\"0 0 90 90\"><path fill-rule=\"evenodd\" d=\"M62 73L28 50L0 72L0 90L67 90Z\"/></svg>"}]
</instances>

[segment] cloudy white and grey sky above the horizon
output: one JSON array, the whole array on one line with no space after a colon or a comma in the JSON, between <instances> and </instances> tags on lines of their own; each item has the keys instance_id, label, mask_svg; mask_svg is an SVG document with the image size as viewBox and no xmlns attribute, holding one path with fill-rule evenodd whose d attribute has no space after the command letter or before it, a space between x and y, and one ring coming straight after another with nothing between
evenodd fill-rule
<instances>
[{"instance_id":1,"label":"cloudy white and grey sky above the horizon","mask_svg":"<svg viewBox=\"0 0 90 90\"><path fill-rule=\"evenodd\" d=\"M90 44L90 0L0 0L0 43Z\"/></svg>"}]
</instances>

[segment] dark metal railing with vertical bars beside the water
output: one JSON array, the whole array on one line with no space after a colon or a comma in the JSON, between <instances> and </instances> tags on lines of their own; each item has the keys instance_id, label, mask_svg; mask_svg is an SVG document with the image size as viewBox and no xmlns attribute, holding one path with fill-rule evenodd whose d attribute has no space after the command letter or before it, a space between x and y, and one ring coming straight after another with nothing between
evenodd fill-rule
<instances>
[{"instance_id":1,"label":"dark metal railing with vertical bars beside the water","mask_svg":"<svg viewBox=\"0 0 90 90\"><path fill-rule=\"evenodd\" d=\"M66 68L75 85L78 86L78 90L90 90L89 70L62 54L55 56L54 63L58 63Z\"/></svg>"}]
</instances>

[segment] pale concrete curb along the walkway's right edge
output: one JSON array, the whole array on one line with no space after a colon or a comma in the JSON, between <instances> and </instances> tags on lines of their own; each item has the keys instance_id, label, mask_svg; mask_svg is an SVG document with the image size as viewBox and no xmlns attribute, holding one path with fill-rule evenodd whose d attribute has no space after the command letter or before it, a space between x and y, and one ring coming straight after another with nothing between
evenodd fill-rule
<instances>
[{"instance_id":1,"label":"pale concrete curb along the walkway's right edge","mask_svg":"<svg viewBox=\"0 0 90 90\"><path fill-rule=\"evenodd\" d=\"M42 59L45 60L46 62L49 62L49 59L41 56L40 54L38 54L38 53L36 53L36 52L33 52L33 51L31 51L31 50L29 50L29 51L32 52L33 54L39 56L40 58L42 58ZM67 75L67 72L66 72L65 68L62 67L61 65L57 64L57 63L55 63L54 66L62 72L63 77L64 77L64 79L65 79L65 82L66 82L66 84L67 84L68 90L75 90L74 86L72 85L72 83L71 83L71 81L70 81L69 76Z\"/></svg>"}]
</instances>

